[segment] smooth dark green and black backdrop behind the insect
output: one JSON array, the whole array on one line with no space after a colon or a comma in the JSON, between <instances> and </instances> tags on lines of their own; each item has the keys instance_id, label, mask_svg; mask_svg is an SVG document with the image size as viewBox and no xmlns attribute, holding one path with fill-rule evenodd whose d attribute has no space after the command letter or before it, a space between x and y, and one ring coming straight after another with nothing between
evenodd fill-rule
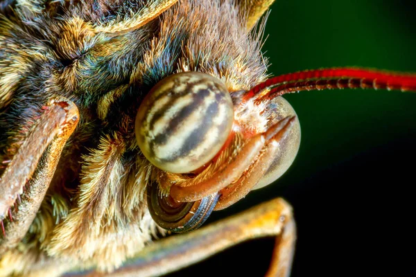
<instances>
[{"instance_id":1,"label":"smooth dark green and black backdrop behind the insect","mask_svg":"<svg viewBox=\"0 0 416 277\"><path fill-rule=\"evenodd\" d=\"M416 72L414 0L277 0L263 50L270 73L365 66ZM416 93L304 91L293 166L210 222L274 197L297 221L292 276L416 276ZM241 244L171 276L263 276L274 240Z\"/></svg>"}]
</instances>

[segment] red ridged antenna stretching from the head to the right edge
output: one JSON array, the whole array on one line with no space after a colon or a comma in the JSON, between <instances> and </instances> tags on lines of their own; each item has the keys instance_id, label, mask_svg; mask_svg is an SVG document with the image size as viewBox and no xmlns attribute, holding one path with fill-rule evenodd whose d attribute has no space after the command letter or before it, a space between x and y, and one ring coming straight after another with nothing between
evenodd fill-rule
<instances>
[{"instance_id":1,"label":"red ridged antenna stretching from the head to the right edge","mask_svg":"<svg viewBox=\"0 0 416 277\"><path fill-rule=\"evenodd\" d=\"M345 88L416 91L416 74L348 67L299 71L279 75L257 84L245 93L242 102L257 96L263 89L270 91L260 96L261 99L296 91Z\"/></svg>"}]
</instances>

